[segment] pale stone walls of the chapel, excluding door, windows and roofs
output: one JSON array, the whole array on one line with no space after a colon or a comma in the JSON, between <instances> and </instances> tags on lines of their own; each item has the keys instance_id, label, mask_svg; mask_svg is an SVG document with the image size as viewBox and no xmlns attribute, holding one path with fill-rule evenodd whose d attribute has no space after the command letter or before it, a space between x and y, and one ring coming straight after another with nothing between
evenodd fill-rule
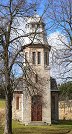
<instances>
[{"instance_id":1,"label":"pale stone walls of the chapel, excluding door, windows and roofs","mask_svg":"<svg viewBox=\"0 0 72 134\"><path fill-rule=\"evenodd\" d=\"M41 46L40 48L37 47L38 45L36 46L36 48L27 47L24 50L24 54L27 53L27 60L32 68L30 71L28 71L28 75L30 80L34 84L34 87L28 86L28 89L32 96L37 94L42 96L42 121L51 123L50 67L44 64L44 53L48 52L49 55L49 50L48 48L45 49ZM36 53L36 64L32 64L32 52ZM37 58L38 52L41 52L41 64L38 64L38 58ZM38 79L37 82L36 82L36 75ZM19 109L16 109L17 96L19 96ZM55 105L57 107L57 103ZM56 115L57 114L58 113L56 113ZM13 118L22 121L26 125L31 122L31 96L27 97L24 91L23 94L14 93Z\"/></svg>"}]
</instances>

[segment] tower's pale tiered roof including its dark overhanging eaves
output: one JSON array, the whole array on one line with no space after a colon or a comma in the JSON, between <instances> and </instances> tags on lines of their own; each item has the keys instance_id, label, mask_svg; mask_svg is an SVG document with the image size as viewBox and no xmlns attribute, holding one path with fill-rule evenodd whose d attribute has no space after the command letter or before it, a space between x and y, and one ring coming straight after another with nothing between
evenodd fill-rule
<instances>
[{"instance_id":1,"label":"tower's pale tiered roof including its dark overhanging eaves","mask_svg":"<svg viewBox=\"0 0 72 134\"><path fill-rule=\"evenodd\" d=\"M24 45L24 49L25 47L38 46L48 48L50 50L44 27L45 24L43 22L42 17L35 13L34 16L28 19L26 26L26 32L28 33L28 37L26 38L27 44Z\"/></svg>"}]
</instances>

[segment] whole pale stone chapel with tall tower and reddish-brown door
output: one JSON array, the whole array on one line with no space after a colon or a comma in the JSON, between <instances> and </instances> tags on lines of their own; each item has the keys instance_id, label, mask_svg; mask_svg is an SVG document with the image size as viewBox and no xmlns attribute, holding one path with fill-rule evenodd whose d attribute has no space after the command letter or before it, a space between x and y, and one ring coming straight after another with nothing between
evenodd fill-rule
<instances>
[{"instance_id":1,"label":"whole pale stone chapel with tall tower and reddish-brown door","mask_svg":"<svg viewBox=\"0 0 72 134\"><path fill-rule=\"evenodd\" d=\"M25 125L51 124L58 121L58 88L50 76L51 46L39 15L28 19L26 32L30 35L23 45L25 75L13 94L13 119Z\"/></svg>"}]
</instances>

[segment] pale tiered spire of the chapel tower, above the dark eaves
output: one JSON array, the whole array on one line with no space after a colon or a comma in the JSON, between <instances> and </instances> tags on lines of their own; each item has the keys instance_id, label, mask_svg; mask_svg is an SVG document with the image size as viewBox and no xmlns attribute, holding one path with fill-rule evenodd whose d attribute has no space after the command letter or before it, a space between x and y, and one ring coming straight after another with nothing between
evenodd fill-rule
<instances>
[{"instance_id":1,"label":"pale tiered spire of the chapel tower, above the dark eaves","mask_svg":"<svg viewBox=\"0 0 72 134\"><path fill-rule=\"evenodd\" d=\"M27 33L30 33L30 36L28 37L29 43L33 42L33 44L42 43L48 45L45 24L42 17L39 15L35 14L28 19L26 31Z\"/></svg>"}]
</instances>

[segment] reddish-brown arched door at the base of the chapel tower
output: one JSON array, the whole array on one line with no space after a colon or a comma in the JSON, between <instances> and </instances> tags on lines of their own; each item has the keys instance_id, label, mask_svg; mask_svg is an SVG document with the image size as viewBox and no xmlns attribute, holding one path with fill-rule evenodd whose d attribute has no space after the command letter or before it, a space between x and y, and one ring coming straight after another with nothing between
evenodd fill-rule
<instances>
[{"instance_id":1,"label":"reddish-brown arched door at the base of the chapel tower","mask_svg":"<svg viewBox=\"0 0 72 134\"><path fill-rule=\"evenodd\" d=\"M39 95L34 95L31 98L31 120L42 121L42 101Z\"/></svg>"}]
</instances>

